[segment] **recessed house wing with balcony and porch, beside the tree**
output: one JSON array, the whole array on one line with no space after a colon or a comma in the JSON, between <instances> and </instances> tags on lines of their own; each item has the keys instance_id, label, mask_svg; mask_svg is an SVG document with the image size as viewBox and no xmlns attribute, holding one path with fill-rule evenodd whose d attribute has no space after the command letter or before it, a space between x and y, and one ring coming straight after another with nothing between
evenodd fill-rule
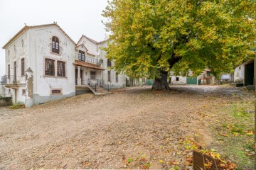
<instances>
[{"instance_id":1,"label":"recessed house wing with balcony and porch, beside the tree","mask_svg":"<svg viewBox=\"0 0 256 170\"><path fill-rule=\"evenodd\" d=\"M77 94L88 89L86 85L103 86L104 89L123 88L126 86L124 74L111 70L113 62L105 58L107 40L97 42L82 35L75 47L75 82ZM87 86L88 87L88 86Z\"/></svg>"}]
</instances>

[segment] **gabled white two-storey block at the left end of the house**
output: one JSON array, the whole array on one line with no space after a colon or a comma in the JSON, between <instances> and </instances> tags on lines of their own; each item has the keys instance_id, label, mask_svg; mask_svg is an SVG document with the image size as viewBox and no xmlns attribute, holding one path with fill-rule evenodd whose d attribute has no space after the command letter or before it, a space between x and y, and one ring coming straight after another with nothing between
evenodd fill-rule
<instances>
[{"instance_id":1,"label":"gabled white two-storey block at the left end of the house","mask_svg":"<svg viewBox=\"0 0 256 170\"><path fill-rule=\"evenodd\" d=\"M24 26L6 50L6 88L26 106L75 96L76 43L56 23Z\"/></svg>"}]
</instances>

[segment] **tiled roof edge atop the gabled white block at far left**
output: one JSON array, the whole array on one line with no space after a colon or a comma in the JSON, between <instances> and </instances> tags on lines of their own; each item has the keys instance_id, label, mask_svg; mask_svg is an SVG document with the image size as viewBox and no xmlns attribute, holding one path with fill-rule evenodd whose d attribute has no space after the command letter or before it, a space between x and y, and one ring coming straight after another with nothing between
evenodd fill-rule
<instances>
[{"instance_id":1,"label":"tiled roof edge atop the gabled white block at far left","mask_svg":"<svg viewBox=\"0 0 256 170\"><path fill-rule=\"evenodd\" d=\"M14 40L16 40L16 38L18 38L19 35L21 35L22 33L25 33L26 30L28 30L28 29L44 28L44 27L49 27L49 26L56 26L57 28L59 28L59 30L60 30L61 32L63 32L63 34L64 34L66 37L68 37L68 39L69 39L71 42L73 42L74 45L76 45L76 43L70 38L70 36L68 36L68 34L65 33L65 31L64 31L62 28L60 28L60 26L58 26L57 23L50 23L50 24L43 24L43 25L38 25L38 26L24 26L20 31L18 31L18 33L16 33L16 35L14 35L13 38L11 38L11 40L9 40L9 41L6 43L6 45L4 45L3 48L5 49L9 44L11 44L11 42L13 42Z\"/></svg>"}]
</instances>

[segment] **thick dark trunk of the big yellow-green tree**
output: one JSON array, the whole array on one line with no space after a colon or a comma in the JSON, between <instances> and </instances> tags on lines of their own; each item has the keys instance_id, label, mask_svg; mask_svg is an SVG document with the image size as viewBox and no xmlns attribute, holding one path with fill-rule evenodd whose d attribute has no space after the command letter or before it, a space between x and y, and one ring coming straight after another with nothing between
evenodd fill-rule
<instances>
[{"instance_id":1,"label":"thick dark trunk of the big yellow-green tree","mask_svg":"<svg viewBox=\"0 0 256 170\"><path fill-rule=\"evenodd\" d=\"M152 90L169 90L168 72L160 71L160 77L155 78Z\"/></svg>"}]
</instances>

